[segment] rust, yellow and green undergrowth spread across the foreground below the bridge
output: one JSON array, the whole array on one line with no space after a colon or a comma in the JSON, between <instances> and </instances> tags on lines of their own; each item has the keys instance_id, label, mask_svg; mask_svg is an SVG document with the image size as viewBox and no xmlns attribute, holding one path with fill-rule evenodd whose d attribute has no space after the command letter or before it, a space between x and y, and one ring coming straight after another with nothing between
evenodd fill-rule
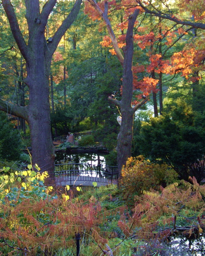
<instances>
[{"instance_id":1,"label":"rust, yellow and green undergrowth spread across the foreground below the bridge","mask_svg":"<svg viewBox=\"0 0 205 256\"><path fill-rule=\"evenodd\" d=\"M44 186L46 172L28 168L0 176L0 255L76 255L76 233L81 256L172 255L171 235L203 235L205 185L195 178L144 192L128 208L115 185L57 194Z\"/></svg>"}]
</instances>

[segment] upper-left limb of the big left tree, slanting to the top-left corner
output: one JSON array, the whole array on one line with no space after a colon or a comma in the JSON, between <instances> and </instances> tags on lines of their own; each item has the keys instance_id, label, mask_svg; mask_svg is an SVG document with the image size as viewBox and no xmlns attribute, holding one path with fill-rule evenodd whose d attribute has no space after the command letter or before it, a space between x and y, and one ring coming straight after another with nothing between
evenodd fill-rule
<instances>
[{"instance_id":1,"label":"upper-left limb of the big left tree, slanting to the top-left corner","mask_svg":"<svg viewBox=\"0 0 205 256\"><path fill-rule=\"evenodd\" d=\"M17 17L15 14L14 8L13 8L10 0L2 0L2 5L3 5L3 9L6 12L6 15L8 17L11 32L13 34L15 41L17 42L18 48L19 48L21 54L23 55L24 59L28 60L29 55L28 55L27 45L26 45L26 42L24 41L23 35L21 34L21 30L18 25L18 21L17 21Z\"/></svg>"}]
</instances>

